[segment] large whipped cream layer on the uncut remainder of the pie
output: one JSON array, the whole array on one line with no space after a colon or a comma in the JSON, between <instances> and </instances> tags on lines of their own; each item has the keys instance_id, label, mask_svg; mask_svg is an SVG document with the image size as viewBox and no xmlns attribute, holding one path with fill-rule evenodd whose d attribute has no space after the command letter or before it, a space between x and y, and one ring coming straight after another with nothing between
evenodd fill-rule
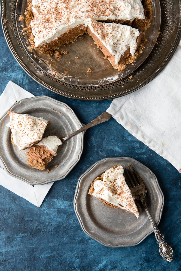
<instances>
[{"instance_id":1,"label":"large whipped cream layer on the uncut remainder of the pie","mask_svg":"<svg viewBox=\"0 0 181 271\"><path fill-rule=\"evenodd\" d=\"M35 46L50 43L67 30L94 20L144 19L140 0L32 0Z\"/></svg>"}]
</instances>

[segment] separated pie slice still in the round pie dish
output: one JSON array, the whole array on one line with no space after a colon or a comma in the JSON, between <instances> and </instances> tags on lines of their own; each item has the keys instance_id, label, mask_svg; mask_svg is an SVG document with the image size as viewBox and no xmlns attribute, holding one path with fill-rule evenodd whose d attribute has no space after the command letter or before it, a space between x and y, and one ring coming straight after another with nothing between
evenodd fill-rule
<instances>
[{"instance_id":1,"label":"separated pie slice still in the round pie dish","mask_svg":"<svg viewBox=\"0 0 181 271\"><path fill-rule=\"evenodd\" d=\"M118 70L124 68L123 60L129 54L133 56L141 42L139 30L128 25L91 20L87 32L104 53L105 58Z\"/></svg>"}]
</instances>

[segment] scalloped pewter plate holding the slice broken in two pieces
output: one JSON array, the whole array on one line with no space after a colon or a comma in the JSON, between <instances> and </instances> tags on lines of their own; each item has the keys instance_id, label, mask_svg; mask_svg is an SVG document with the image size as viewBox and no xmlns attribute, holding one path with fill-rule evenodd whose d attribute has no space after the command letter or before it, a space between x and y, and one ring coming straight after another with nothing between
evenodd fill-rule
<instances>
[{"instance_id":1,"label":"scalloped pewter plate holding the slice broken in two pieces","mask_svg":"<svg viewBox=\"0 0 181 271\"><path fill-rule=\"evenodd\" d=\"M49 120L51 124L45 131L45 137L56 135L63 138L82 127L81 122L68 105L47 96L22 99L12 105L9 110ZM29 184L46 184L65 178L79 161L83 151L84 133L77 134L65 141L61 150L57 152L44 171L31 168L26 162L27 150L19 151L11 143L11 130L6 126L8 121L9 117L5 113L0 119L0 159L6 172L13 177ZM49 173L46 172L47 169L50 169Z\"/></svg>"}]
</instances>

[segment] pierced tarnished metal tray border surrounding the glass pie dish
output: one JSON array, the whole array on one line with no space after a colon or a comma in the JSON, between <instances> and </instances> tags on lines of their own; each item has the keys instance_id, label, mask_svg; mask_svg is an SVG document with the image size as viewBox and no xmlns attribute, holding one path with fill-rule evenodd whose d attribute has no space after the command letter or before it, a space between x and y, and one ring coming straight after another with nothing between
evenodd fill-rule
<instances>
[{"instance_id":1,"label":"pierced tarnished metal tray border surrounding the glass pie dish","mask_svg":"<svg viewBox=\"0 0 181 271\"><path fill-rule=\"evenodd\" d=\"M162 0L160 35L151 54L132 74L101 86L75 86L45 73L25 52L16 27L16 0L1 0L1 21L5 39L19 65L38 84L73 99L107 100L131 93L156 77L172 57L181 38L181 3ZM23 55L23 56L22 56ZM33 72L29 67L33 67ZM39 74L39 76L37 76ZM43 80L41 80L43 77ZM45 80L46 79L46 80Z\"/></svg>"}]
</instances>

